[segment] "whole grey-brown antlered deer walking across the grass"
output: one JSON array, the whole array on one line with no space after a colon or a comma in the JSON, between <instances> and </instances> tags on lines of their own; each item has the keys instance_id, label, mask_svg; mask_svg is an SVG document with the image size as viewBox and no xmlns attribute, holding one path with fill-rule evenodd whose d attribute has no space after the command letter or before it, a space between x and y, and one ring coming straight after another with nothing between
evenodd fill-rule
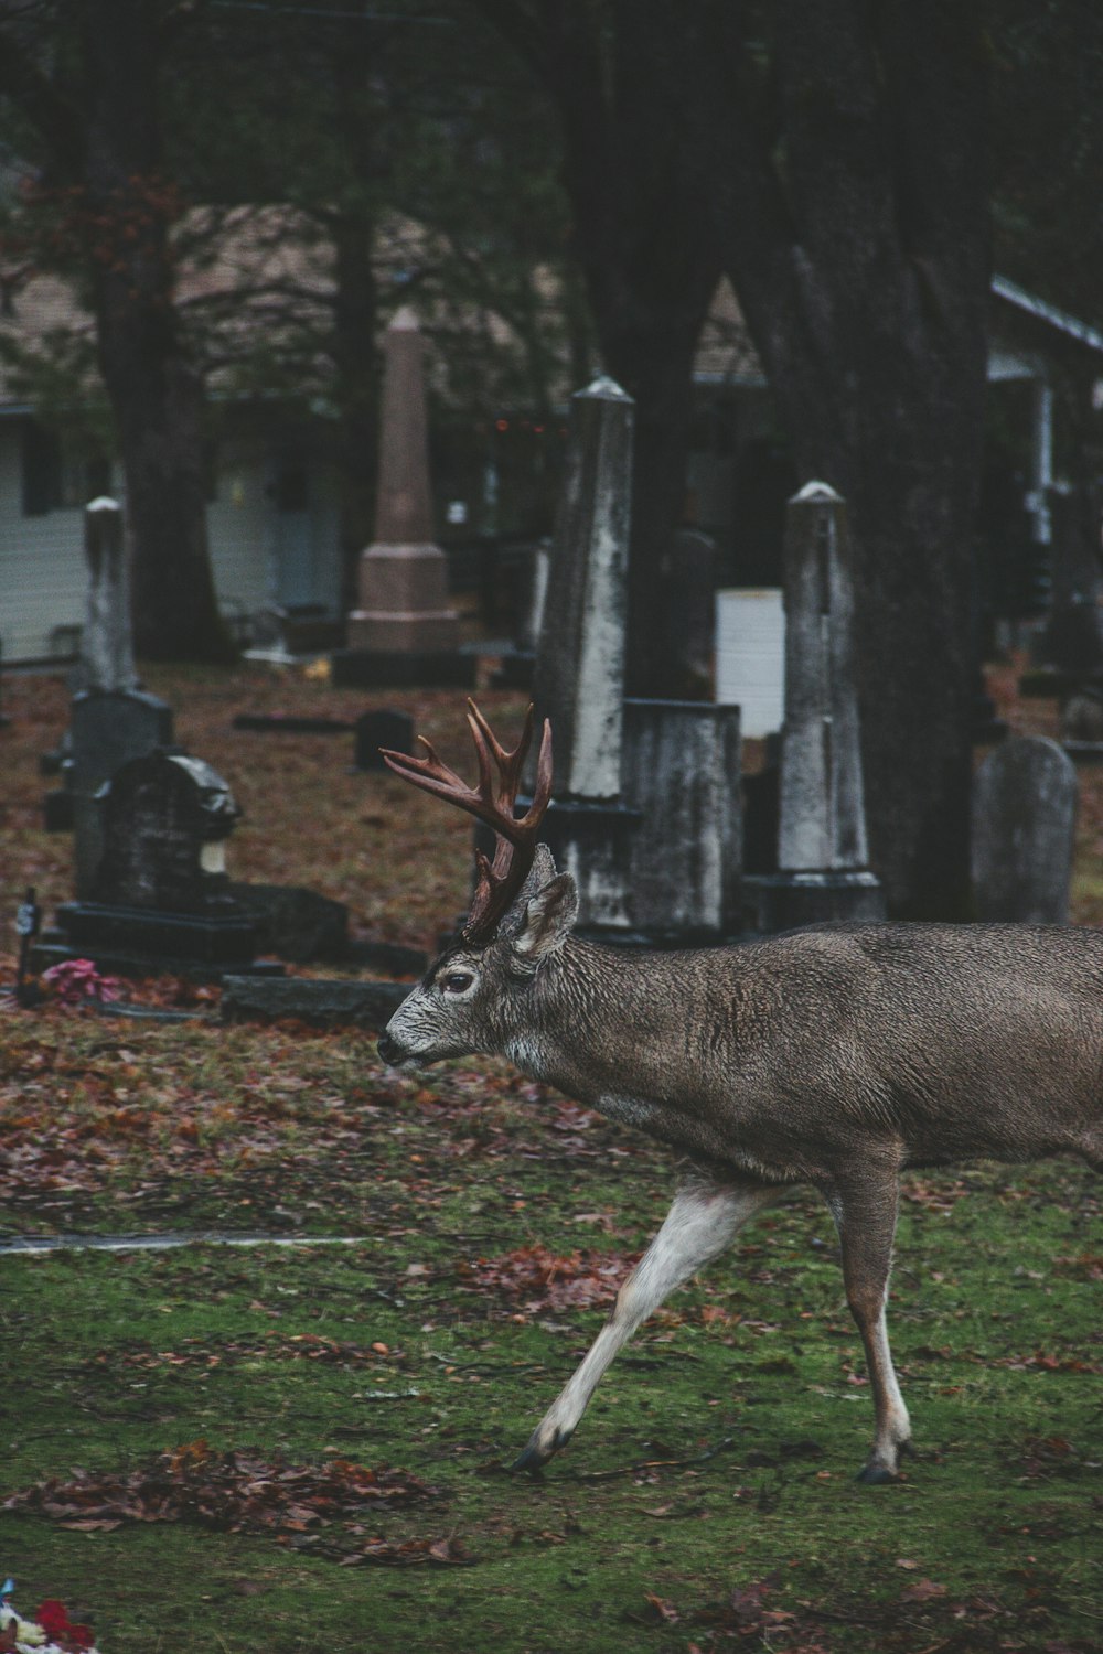
<instances>
[{"instance_id":1,"label":"whole grey-brown antlered deer walking across the grass","mask_svg":"<svg viewBox=\"0 0 1103 1654\"><path fill-rule=\"evenodd\" d=\"M982 1156L1103 1164L1103 933L1025 925L830 925L746 946L652 953L572 935L577 892L537 842L544 724L506 753L468 703L478 787L425 743L394 771L494 829L458 939L394 1014L380 1057L417 1068L506 1055L688 1159L670 1212L585 1360L516 1460L574 1434L635 1328L795 1183L827 1202L862 1333L875 1432L862 1482L888 1482L911 1427L885 1327L900 1173Z\"/></svg>"}]
</instances>

